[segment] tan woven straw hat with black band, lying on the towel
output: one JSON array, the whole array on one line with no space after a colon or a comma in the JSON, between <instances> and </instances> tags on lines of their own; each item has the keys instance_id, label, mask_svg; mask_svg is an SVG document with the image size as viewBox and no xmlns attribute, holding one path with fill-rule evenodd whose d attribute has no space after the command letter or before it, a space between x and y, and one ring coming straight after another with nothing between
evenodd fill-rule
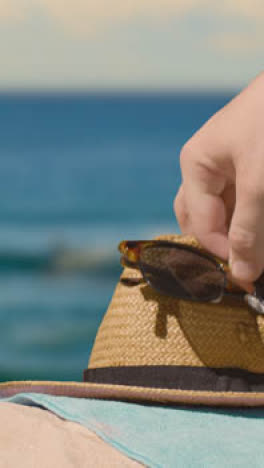
<instances>
[{"instance_id":1,"label":"tan woven straw hat with black band, lying on the towel","mask_svg":"<svg viewBox=\"0 0 264 468\"><path fill-rule=\"evenodd\" d=\"M190 237L161 239L198 246ZM134 402L264 406L264 316L225 298L162 295L125 268L99 327L84 382L11 382L21 391ZM122 279L129 279L124 282Z\"/></svg>"}]
</instances>

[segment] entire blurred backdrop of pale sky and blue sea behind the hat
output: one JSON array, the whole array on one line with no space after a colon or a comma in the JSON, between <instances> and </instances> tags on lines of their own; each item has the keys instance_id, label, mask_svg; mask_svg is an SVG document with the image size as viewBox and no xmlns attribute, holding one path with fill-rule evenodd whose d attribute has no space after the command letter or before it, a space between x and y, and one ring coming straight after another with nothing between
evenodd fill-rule
<instances>
[{"instance_id":1,"label":"entire blurred backdrop of pale sky and blue sea behind the hat","mask_svg":"<svg viewBox=\"0 0 264 468\"><path fill-rule=\"evenodd\" d=\"M118 242L178 232L180 149L263 26L260 0L1 1L1 380L82 379Z\"/></svg>"}]
</instances>

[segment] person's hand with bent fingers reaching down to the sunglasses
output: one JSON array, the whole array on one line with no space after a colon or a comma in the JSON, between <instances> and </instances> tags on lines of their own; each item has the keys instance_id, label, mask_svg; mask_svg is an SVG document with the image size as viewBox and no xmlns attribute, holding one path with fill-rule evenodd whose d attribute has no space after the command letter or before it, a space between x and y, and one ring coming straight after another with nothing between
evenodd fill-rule
<instances>
[{"instance_id":1,"label":"person's hand with bent fingers reaching down to the sunglasses","mask_svg":"<svg viewBox=\"0 0 264 468\"><path fill-rule=\"evenodd\" d=\"M229 259L241 282L264 270L264 73L184 145L174 209L184 234Z\"/></svg>"}]
</instances>

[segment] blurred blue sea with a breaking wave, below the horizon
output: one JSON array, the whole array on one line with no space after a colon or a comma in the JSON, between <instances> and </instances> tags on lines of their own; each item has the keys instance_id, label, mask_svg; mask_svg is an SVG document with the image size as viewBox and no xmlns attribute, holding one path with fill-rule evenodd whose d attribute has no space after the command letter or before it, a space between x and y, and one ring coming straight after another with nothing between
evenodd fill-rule
<instances>
[{"instance_id":1,"label":"blurred blue sea with a breaking wave, below the horizon","mask_svg":"<svg viewBox=\"0 0 264 468\"><path fill-rule=\"evenodd\" d=\"M0 95L0 380L82 380L117 245L179 232L183 144L232 97Z\"/></svg>"}]
</instances>

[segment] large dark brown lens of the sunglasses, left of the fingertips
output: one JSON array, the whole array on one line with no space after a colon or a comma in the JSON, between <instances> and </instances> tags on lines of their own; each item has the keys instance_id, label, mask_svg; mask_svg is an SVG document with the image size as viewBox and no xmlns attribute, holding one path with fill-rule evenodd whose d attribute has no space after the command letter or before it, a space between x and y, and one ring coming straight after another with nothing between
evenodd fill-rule
<instances>
[{"instance_id":1,"label":"large dark brown lens of the sunglasses, left of the fingertips","mask_svg":"<svg viewBox=\"0 0 264 468\"><path fill-rule=\"evenodd\" d=\"M182 299L213 301L221 297L225 277L209 258L177 246L150 246L140 266L156 290Z\"/></svg>"}]
</instances>

